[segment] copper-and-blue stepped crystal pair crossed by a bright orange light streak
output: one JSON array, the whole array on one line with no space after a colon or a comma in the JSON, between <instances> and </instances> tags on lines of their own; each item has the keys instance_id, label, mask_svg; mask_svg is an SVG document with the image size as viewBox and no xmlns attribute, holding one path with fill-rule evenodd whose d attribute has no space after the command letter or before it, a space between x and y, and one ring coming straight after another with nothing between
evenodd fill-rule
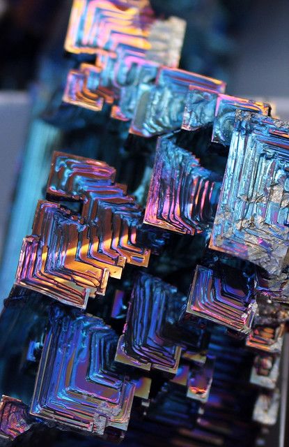
<instances>
[{"instance_id":1,"label":"copper-and-blue stepped crystal pair crossed by a bright orange light streak","mask_svg":"<svg viewBox=\"0 0 289 447\"><path fill-rule=\"evenodd\" d=\"M121 277L126 262L148 265L150 250L136 243L141 209L114 176L106 163L54 154L47 196L80 203L81 213L38 203L16 284L85 309L89 296L104 295L109 276Z\"/></svg>"}]
</instances>

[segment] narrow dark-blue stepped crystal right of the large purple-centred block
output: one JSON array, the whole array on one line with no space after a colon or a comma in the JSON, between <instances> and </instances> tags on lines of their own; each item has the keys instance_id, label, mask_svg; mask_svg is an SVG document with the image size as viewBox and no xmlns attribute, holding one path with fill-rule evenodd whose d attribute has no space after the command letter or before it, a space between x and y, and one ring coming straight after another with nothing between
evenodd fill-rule
<instances>
[{"instance_id":1,"label":"narrow dark-blue stepped crystal right of the large purple-centred block","mask_svg":"<svg viewBox=\"0 0 289 447\"><path fill-rule=\"evenodd\" d=\"M141 274L134 284L116 360L141 369L175 374L182 347L170 339L165 326L173 329L173 323L178 323L183 300L175 287Z\"/></svg>"}]
</instances>

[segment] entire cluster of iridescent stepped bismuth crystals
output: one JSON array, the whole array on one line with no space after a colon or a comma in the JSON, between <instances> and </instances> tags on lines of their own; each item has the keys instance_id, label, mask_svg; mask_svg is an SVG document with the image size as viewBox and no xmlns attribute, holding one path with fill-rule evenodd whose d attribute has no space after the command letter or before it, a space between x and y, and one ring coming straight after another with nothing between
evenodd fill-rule
<instances>
[{"instance_id":1,"label":"entire cluster of iridescent stepped bismuth crystals","mask_svg":"<svg viewBox=\"0 0 289 447\"><path fill-rule=\"evenodd\" d=\"M109 163L54 152L0 319L4 441L47 425L249 447L276 423L289 124L180 70L184 34L147 0L73 2L63 103L109 110L148 163L132 194Z\"/></svg>"}]
</instances>

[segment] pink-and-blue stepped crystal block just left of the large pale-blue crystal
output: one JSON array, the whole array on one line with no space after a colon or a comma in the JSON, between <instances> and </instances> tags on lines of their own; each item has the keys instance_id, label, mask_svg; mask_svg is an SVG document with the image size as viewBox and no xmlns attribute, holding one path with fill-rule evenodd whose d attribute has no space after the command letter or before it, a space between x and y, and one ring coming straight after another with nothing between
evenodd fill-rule
<instances>
[{"instance_id":1,"label":"pink-and-blue stepped crystal block just left of the large pale-blue crystal","mask_svg":"<svg viewBox=\"0 0 289 447\"><path fill-rule=\"evenodd\" d=\"M176 135L159 138L143 222L176 233L209 230L217 210L221 177L203 168Z\"/></svg>"}]
</instances>

